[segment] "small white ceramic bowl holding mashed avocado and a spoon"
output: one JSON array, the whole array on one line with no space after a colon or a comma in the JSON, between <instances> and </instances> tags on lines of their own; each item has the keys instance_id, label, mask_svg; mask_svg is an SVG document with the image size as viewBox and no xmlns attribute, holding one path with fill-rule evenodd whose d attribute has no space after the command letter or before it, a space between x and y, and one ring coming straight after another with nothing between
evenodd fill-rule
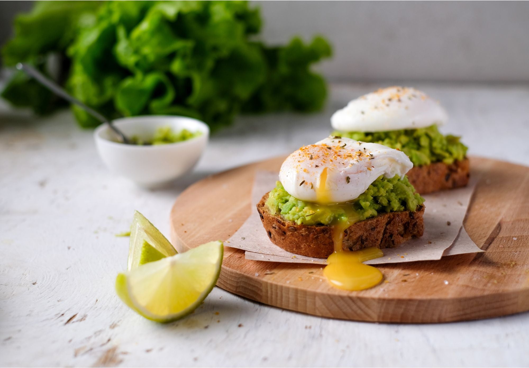
<instances>
[{"instance_id":1,"label":"small white ceramic bowl holding mashed avocado and a spoon","mask_svg":"<svg viewBox=\"0 0 529 368\"><path fill-rule=\"evenodd\" d=\"M106 124L94 132L97 151L107 167L129 178L141 187L164 185L182 176L197 163L206 148L209 127L197 119L184 116L134 116L113 121L126 136L152 139L158 127L170 126L178 132L184 128L201 135L190 140L160 145L117 143L115 134Z\"/></svg>"}]
</instances>

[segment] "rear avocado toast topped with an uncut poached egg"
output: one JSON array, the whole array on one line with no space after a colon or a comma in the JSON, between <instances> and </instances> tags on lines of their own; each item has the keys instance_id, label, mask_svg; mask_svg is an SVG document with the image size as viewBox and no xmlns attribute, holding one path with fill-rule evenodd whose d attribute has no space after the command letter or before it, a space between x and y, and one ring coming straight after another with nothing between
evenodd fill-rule
<instances>
[{"instance_id":1,"label":"rear avocado toast topped with an uncut poached egg","mask_svg":"<svg viewBox=\"0 0 529 368\"><path fill-rule=\"evenodd\" d=\"M414 167L409 181L421 194L466 186L467 146L438 126L446 112L423 92L388 87L352 100L331 117L334 135L384 144L406 153Z\"/></svg>"}]
</instances>

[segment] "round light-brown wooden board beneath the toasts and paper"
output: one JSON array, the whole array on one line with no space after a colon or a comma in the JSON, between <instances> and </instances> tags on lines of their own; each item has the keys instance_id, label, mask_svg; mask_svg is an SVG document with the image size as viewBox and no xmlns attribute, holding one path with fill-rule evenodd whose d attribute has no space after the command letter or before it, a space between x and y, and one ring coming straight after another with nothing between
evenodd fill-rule
<instances>
[{"instance_id":1,"label":"round light-brown wooden board beneath the toasts and paper","mask_svg":"<svg viewBox=\"0 0 529 368\"><path fill-rule=\"evenodd\" d=\"M177 250L229 238L257 210L250 208L254 172L279 172L283 160L245 165L187 188L171 210ZM217 286L279 308L373 322L435 323L529 310L529 168L471 158L471 175L481 179L464 224L485 253L377 265L385 281L344 291L326 282L320 265L250 261L244 251L224 247Z\"/></svg>"}]
</instances>

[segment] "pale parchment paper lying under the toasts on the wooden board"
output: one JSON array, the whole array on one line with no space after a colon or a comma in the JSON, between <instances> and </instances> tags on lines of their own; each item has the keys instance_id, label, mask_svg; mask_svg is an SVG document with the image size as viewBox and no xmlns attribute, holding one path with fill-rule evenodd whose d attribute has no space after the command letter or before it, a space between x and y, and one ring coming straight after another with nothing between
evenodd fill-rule
<instances>
[{"instance_id":1,"label":"pale parchment paper lying under the toasts on the wooden board","mask_svg":"<svg viewBox=\"0 0 529 368\"><path fill-rule=\"evenodd\" d=\"M265 193L275 187L276 180L277 173L256 172L252 188L251 215L224 245L245 250L245 257L250 260L325 264L326 259L290 253L270 241L256 205ZM384 249L383 257L365 263L439 260L443 255L481 252L462 226L475 184L476 180L471 180L465 188L424 195L424 235L396 248Z\"/></svg>"}]
</instances>

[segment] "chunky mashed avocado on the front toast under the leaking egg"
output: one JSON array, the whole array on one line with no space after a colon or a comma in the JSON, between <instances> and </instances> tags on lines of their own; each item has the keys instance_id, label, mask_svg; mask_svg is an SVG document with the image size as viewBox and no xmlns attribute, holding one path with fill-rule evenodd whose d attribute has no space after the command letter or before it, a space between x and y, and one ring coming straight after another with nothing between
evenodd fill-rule
<instances>
[{"instance_id":1,"label":"chunky mashed avocado on the front toast under the leaking egg","mask_svg":"<svg viewBox=\"0 0 529 368\"><path fill-rule=\"evenodd\" d=\"M422 205L424 198L415 193L408 178L395 176L387 179L380 176L369 188L351 203L321 206L305 202L289 195L280 181L270 191L266 205L272 215L280 214L288 221L299 224L329 225L345 220L354 211L359 220L375 217L392 211L414 211Z\"/></svg>"}]
</instances>

